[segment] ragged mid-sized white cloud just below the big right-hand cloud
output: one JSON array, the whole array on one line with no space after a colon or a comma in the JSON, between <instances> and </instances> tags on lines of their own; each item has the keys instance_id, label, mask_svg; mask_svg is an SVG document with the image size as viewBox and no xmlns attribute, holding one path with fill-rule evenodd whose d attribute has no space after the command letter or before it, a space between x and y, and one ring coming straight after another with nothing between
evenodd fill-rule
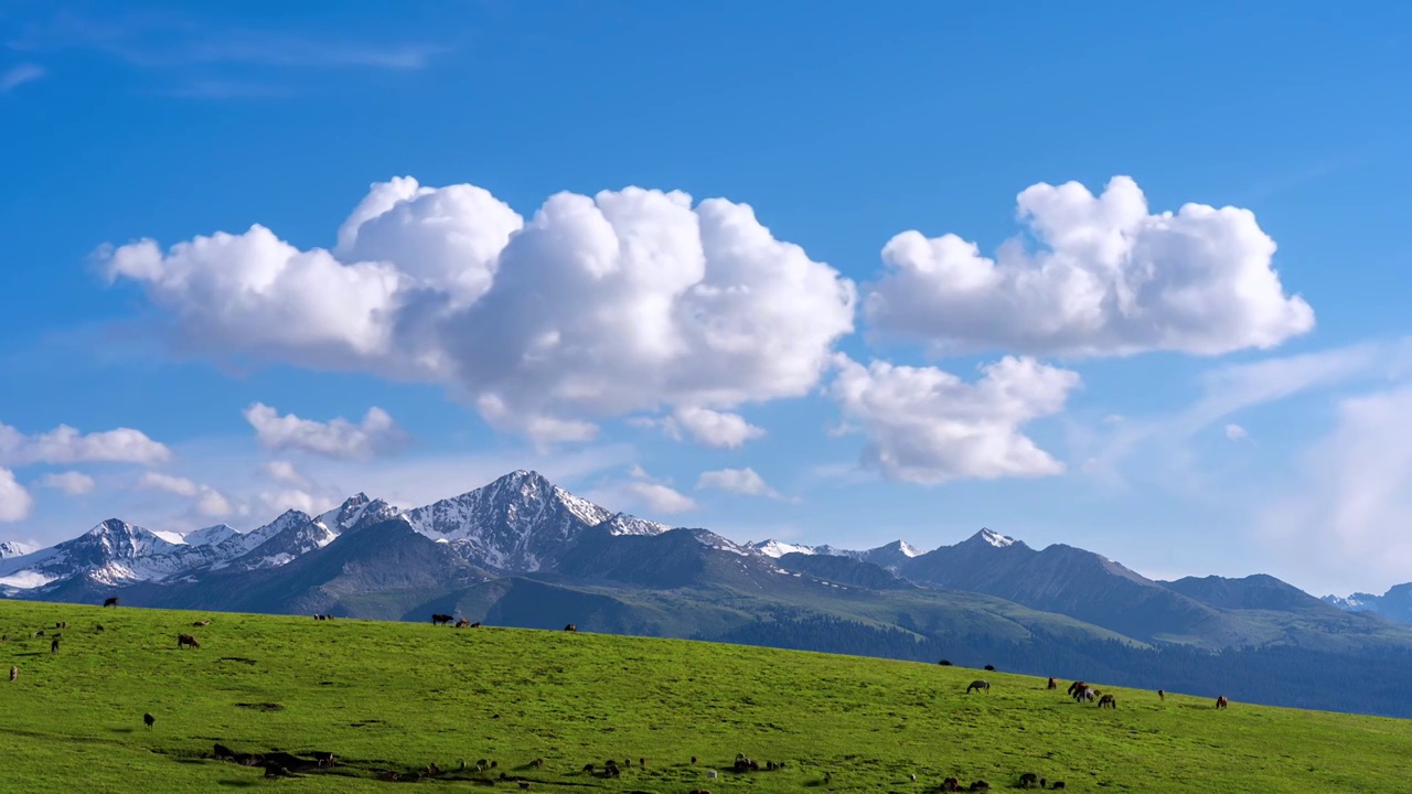
<instances>
[{"instance_id":1,"label":"ragged mid-sized white cloud just below the big right-hand cloud","mask_svg":"<svg viewBox=\"0 0 1412 794\"><path fill-rule=\"evenodd\" d=\"M888 479L938 485L1065 469L1019 428L1063 410L1080 384L1075 372L1007 356L970 384L936 367L864 367L842 353L837 365L829 391L868 438L863 463Z\"/></svg>"}]
</instances>

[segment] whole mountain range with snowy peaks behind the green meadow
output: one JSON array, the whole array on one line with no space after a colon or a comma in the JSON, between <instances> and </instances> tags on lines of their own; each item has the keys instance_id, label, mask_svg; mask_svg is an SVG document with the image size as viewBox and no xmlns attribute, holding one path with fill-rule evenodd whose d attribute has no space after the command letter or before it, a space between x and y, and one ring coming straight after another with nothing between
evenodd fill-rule
<instances>
[{"instance_id":1,"label":"whole mountain range with snowy peaks behind the green meadow","mask_svg":"<svg viewBox=\"0 0 1412 794\"><path fill-rule=\"evenodd\" d=\"M412 510L359 493L247 533L110 519L48 548L0 544L0 595L575 623L1173 691L1219 685L1241 699L1412 716L1412 627L1365 606L1375 596L1332 603L1265 575L1154 581L1091 551L1035 550L988 528L925 552L904 541L740 544L607 510L527 470ZM1330 664L1364 675L1309 687Z\"/></svg>"}]
</instances>

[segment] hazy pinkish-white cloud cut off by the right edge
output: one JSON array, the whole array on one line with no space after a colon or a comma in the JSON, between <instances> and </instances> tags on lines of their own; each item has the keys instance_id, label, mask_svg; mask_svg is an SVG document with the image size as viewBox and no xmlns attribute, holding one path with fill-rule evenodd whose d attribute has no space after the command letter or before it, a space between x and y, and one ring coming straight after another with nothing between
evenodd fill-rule
<instances>
[{"instance_id":1,"label":"hazy pinkish-white cloud cut off by the right edge","mask_svg":"<svg viewBox=\"0 0 1412 794\"><path fill-rule=\"evenodd\" d=\"M1409 411L1412 387L1340 401L1337 425L1302 456L1296 482L1258 510L1258 537L1310 578L1356 569L1380 588L1408 581Z\"/></svg>"}]
</instances>

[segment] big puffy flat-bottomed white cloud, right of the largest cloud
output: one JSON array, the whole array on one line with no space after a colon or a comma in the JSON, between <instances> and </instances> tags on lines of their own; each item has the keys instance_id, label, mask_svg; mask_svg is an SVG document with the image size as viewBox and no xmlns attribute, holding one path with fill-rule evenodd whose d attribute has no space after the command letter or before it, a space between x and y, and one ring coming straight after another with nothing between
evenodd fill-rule
<instances>
[{"instance_id":1,"label":"big puffy flat-bottomed white cloud, right of the largest cloud","mask_svg":"<svg viewBox=\"0 0 1412 794\"><path fill-rule=\"evenodd\" d=\"M1100 196L1032 185L1018 218L1041 250L1015 239L991 260L956 235L892 237L864 301L871 325L938 352L1073 356L1268 349L1315 326L1309 304L1285 297L1275 242L1247 209L1151 215L1138 185L1114 177Z\"/></svg>"}]
</instances>

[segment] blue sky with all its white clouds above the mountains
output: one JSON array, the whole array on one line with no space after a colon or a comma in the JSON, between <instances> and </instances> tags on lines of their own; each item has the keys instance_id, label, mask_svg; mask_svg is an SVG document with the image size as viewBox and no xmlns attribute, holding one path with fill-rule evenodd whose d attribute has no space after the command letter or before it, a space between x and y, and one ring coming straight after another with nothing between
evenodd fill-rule
<instances>
[{"instance_id":1,"label":"blue sky with all its white clouds above the mountains","mask_svg":"<svg viewBox=\"0 0 1412 794\"><path fill-rule=\"evenodd\" d=\"M1412 581L1412 7L0 3L0 540L535 469Z\"/></svg>"}]
</instances>

